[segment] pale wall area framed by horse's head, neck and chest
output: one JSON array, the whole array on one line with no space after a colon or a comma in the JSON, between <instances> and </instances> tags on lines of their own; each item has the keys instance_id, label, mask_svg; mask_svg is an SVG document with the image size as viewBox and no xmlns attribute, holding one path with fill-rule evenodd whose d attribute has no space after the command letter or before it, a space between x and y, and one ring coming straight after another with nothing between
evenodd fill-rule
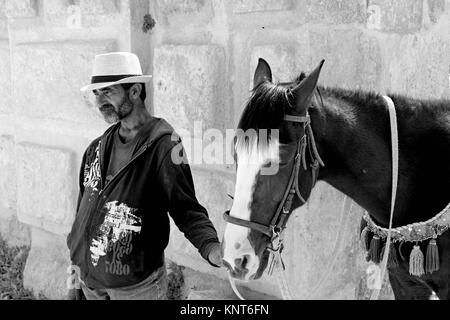
<instances>
[{"instance_id":1,"label":"pale wall area framed by horse's head, neck and chest","mask_svg":"<svg viewBox=\"0 0 450 320\"><path fill-rule=\"evenodd\" d=\"M295 299L359 299L364 269L359 242L362 210L319 182L308 203L294 211L285 235L284 259ZM365 280L364 280L365 281Z\"/></svg>"}]
</instances>

